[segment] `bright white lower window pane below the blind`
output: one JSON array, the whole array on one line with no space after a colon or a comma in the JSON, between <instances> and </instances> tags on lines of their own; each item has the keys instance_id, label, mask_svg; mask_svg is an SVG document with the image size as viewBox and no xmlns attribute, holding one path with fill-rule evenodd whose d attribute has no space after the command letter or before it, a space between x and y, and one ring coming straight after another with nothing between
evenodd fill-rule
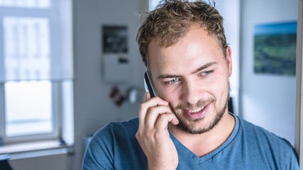
<instances>
[{"instance_id":1,"label":"bright white lower window pane below the blind","mask_svg":"<svg viewBox=\"0 0 303 170\"><path fill-rule=\"evenodd\" d=\"M53 132L50 81L11 81L4 88L6 136Z\"/></svg>"}]
</instances>

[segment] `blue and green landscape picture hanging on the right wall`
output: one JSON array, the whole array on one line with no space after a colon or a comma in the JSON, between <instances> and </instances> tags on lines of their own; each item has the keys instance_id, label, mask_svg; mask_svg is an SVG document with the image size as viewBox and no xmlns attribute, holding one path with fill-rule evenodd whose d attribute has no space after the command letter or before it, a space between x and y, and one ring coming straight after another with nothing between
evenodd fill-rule
<instances>
[{"instance_id":1,"label":"blue and green landscape picture hanging on the right wall","mask_svg":"<svg viewBox=\"0 0 303 170\"><path fill-rule=\"evenodd\" d=\"M297 22L254 27L254 72L295 75Z\"/></svg>"}]
</instances>

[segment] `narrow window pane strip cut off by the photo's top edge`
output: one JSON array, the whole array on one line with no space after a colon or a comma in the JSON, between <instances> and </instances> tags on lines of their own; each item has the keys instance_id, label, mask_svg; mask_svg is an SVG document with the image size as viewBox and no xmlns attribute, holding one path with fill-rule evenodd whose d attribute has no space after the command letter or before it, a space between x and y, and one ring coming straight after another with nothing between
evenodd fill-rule
<instances>
[{"instance_id":1,"label":"narrow window pane strip cut off by the photo's top edge","mask_svg":"<svg viewBox=\"0 0 303 170\"><path fill-rule=\"evenodd\" d=\"M0 0L0 6L48 8L50 0Z\"/></svg>"}]
</instances>

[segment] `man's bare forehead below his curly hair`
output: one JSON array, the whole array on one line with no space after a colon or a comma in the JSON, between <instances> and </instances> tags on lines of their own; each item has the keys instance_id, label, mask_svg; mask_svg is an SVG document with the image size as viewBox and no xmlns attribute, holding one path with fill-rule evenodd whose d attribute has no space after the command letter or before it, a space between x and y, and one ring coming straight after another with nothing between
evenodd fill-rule
<instances>
[{"instance_id":1,"label":"man's bare forehead below his curly hair","mask_svg":"<svg viewBox=\"0 0 303 170\"><path fill-rule=\"evenodd\" d=\"M148 45L148 69L152 74L190 72L202 64L219 62L223 57L217 40L198 27L192 27L184 38L170 47L160 47L155 40Z\"/></svg>"}]
</instances>

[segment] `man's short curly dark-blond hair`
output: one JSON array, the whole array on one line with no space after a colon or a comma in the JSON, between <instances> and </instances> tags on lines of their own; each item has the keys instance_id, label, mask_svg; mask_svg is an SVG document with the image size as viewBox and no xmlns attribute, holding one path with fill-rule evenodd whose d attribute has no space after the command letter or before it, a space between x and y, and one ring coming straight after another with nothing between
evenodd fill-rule
<instances>
[{"instance_id":1,"label":"man's short curly dark-blond hair","mask_svg":"<svg viewBox=\"0 0 303 170\"><path fill-rule=\"evenodd\" d=\"M223 17L215 3L189 0L161 1L155 10L146 12L145 21L138 28L136 40L145 66L148 66L148 44L155 40L160 47L170 47L184 37L193 25L204 28L219 42L226 56L226 36Z\"/></svg>"}]
</instances>

